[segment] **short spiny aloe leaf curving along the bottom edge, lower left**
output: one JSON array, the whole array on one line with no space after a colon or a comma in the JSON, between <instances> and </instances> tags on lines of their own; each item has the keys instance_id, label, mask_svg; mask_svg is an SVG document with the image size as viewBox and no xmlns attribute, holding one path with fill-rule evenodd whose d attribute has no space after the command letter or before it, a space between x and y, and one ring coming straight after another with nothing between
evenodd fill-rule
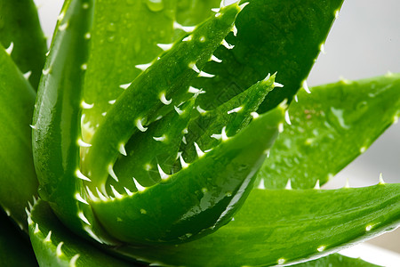
<instances>
[{"instance_id":1,"label":"short spiny aloe leaf curving along the bottom edge, lower left","mask_svg":"<svg viewBox=\"0 0 400 267\"><path fill-rule=\"evenodd\" d=\"M142 266L105 254L100 247L68 231L43 200L39 200L31 211L29 237L40 266Z\"/></svg>"}]
</instances>

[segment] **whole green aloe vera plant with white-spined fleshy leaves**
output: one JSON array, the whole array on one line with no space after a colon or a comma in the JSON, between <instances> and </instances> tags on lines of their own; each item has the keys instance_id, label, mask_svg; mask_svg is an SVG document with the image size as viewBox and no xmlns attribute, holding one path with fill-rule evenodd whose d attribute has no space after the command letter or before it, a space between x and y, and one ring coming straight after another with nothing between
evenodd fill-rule
<instances>
[{"instance_id":1,"label":"whole green aloe vera plant with white-spined fleshy leaves","mask_svg":"<svg viewBox=\"0 0 400 267\"><path fill-rule=\"evenodd\" d=\"M2 266L373 266L335 252L399 225L400 185L320 186L400 74L308 89L341 4L66 0L46 53L0 0Z\"/></svg>"}]
</instances>

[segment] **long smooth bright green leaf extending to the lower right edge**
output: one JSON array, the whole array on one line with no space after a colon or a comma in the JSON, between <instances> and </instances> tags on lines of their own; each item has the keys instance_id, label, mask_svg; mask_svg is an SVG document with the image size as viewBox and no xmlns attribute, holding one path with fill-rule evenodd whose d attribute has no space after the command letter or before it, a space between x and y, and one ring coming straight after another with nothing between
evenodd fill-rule
<instances>
[{"instance_id":1,"label":"long smooth bright green leaf extending to the lower right edge","mask_svg":"<svg viewBox=\"0 0 400 267\"><path fill-rule=\"evenodd\" d=\"M252 190L234 221L177 246L124 255L185 266L267 266L330 254L400 223L400 184L340 190Z\"/></svg>"}]
</instances>

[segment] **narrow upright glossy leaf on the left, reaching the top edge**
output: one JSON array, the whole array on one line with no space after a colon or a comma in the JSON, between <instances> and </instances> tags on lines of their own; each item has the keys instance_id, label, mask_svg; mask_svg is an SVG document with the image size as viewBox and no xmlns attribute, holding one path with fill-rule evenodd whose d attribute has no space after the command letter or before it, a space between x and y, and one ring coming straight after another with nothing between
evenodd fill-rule
<instances>
[{"instance_id":1,"label":"narrow upright glossy leaf on the left, reaching the top edge","mask_svg":"<svg viewBox=\"0 0 400 267\"><path fill-rule=\"evenodd\" d=\"M39 85L33 146L40 197L50 202L70 229L99 239L100 227L84 200L83 181L88 178L80 171L80 147L86 146L80 127L85 34L91 28L93 4L92 0L69 0L62 8Z\"/></svg>"}]
</instances>

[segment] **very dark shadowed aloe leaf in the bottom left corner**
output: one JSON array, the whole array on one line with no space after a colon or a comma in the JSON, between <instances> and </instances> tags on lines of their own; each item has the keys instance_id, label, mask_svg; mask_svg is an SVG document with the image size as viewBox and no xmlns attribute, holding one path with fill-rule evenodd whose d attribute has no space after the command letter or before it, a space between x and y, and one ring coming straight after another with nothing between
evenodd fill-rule
<instances>
[{"instance_id":1,"label":"very dark shadowed aloe leaf in the bottom left corner","mask_svg":"<svg viewBox=\"0 0 400 267\"><path fill-rule=\"evenodd\" d=\"M28 235L0 210L0 265L4 267L37 266Z\"/></svg>"}]
</instances>

